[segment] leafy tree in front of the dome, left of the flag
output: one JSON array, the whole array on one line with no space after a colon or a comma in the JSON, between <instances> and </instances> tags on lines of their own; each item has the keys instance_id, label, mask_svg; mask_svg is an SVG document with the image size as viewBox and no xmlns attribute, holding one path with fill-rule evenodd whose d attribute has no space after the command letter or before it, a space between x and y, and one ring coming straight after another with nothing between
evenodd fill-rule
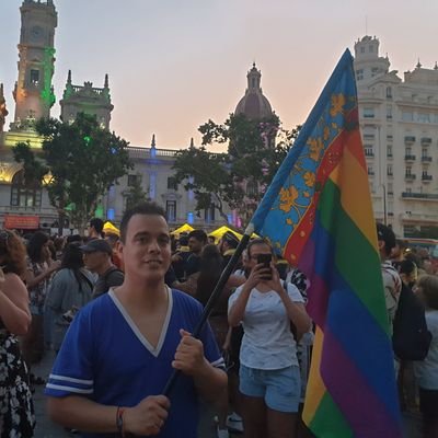
<instances>
[{"instance_id":1,"label":"leafy tree in front of the dome, left of the flag","mask_svg":"<svg viewBox=\"0 0 438 438\"><path fill-rule=\"evenodd\" d=\"M197 210L214 205L227 220L228 204L249 220L300 127L291 131L281 129L275 114L261 120L231 114L223 125L209 119L198 129L201 146L176 153L177 182L194 191ZM228 143L228 152L208 152L206 146L214 143Z\"/></svg>"}]
</instances>

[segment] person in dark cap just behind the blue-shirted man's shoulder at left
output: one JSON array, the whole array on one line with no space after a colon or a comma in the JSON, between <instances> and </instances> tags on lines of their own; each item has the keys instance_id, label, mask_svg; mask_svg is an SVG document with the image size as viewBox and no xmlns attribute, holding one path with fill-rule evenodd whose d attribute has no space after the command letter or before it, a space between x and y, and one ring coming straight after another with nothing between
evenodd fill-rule
<instances>
[{"instance_id":1,"label":"person in dark cap just behind the blue-shirted man's shoulder at left","mask_svg":"<svg viewBox=\"0 0 438 438\"><path fill-rule=\"evenodd\" d=\"M113 250L106 240L91 240L81 246L81 250L87 269L99 275L93 288L93 298L97 298L107 292L110 288L123 284L124 274L112 263Z\"/></svg>"}]
</instances>

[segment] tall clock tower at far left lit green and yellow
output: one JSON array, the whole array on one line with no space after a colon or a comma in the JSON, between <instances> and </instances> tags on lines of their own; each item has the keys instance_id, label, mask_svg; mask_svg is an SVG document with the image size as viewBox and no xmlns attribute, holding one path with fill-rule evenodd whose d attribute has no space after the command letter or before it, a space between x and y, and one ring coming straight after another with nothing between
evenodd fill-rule
<instances>
[{"instance_id":1,"label":"tall clock tower at far left lit green and yellow","mask_svg":"<svg viewBox=\"0 0 438 438\"><path fill-rule=\"evenodd\" d=\"M55 66L55 28L58 14L53 0L24 0L20 8L19 78L13 92L13 130L26 128L30 120L49 117L55 103L51 85Z\"/></svg>"}]
</instances>

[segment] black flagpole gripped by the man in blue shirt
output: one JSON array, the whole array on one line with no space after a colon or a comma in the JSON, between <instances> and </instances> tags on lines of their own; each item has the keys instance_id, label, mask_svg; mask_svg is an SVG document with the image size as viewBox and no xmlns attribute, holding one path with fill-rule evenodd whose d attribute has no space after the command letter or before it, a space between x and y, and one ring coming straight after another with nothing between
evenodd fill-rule
<instances>
[{"instance_id":1,"label":"black flagpole gripped by the man in blue shirt","mask_svg":"<svg viewBox=\"0 0 438 438\"><path fill-rule=\"evenodd\" d=\"M218 299L223 290L223 287L226 286L228 279L230 278L230 275L233 273L234 267L238 264L243 250L246 247L247 242L250 241L251 235L253 233L253 230L254 230L254 227L252 226L252 223L250 223L245 230L245 233L243 234L242 240L239 242L239 245L235 249L234 254L230 258L230 262L228 262L226 268L222 270L222 274L220 275L218 283L215 286L215 290L212 291L209 300L207 301L207 304L204 308L204 312L200 315L200 319L199 319L194 332L192 333L193 337L196 337L196 338L199 337L200 332L203 331L203 328L208 320L208 316L210 315L212 309L216 306L216 302L218 301ZM163 395L165 395L165 396L170 395L178 376L180 376L180 370L174 369L172 371L171 377L168 380L168 383L164 387Z\"/></svg>"}]
</instances>

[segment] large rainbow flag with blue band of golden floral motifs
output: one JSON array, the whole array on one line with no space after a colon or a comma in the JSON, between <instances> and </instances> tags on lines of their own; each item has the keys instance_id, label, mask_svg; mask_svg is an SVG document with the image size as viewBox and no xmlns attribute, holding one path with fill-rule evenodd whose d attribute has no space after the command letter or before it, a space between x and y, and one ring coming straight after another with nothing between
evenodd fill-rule
<instances>
[{"instance_id":1,"label":"large rainbow flag with blue band of golden floral motifs","mask_svg":"<svg viewBox=\"0 0 438 438\"><path fill-rule=\"evenodd\" d=\"M252 219L310 278L303 418L321 438L401 437L377 232L346 50Z\"/></svg>"}]
</instances>

